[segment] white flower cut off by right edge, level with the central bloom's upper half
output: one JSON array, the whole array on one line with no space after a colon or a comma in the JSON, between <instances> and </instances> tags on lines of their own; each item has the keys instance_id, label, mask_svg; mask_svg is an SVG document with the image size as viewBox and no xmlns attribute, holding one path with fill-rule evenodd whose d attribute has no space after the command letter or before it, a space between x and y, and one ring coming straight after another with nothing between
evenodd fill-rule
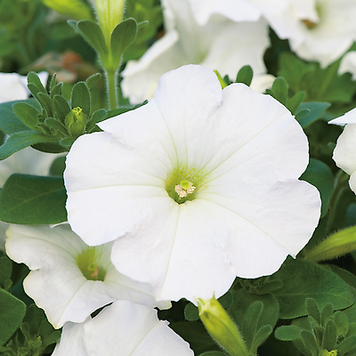
<instances>
[{"instance_id":1,"label":"white flower cut off by right edge, level with the central bloom's upper half","mask_svg":"<svg viewBox=\"0 0 356 356\"><path fill-rule=\"evenodd\" d=\"M345 125L343 133L337 139L333 159L336 166L350 174L350 188L356 194L356 108L328 124Z\"/></svg>"}]
</instances>

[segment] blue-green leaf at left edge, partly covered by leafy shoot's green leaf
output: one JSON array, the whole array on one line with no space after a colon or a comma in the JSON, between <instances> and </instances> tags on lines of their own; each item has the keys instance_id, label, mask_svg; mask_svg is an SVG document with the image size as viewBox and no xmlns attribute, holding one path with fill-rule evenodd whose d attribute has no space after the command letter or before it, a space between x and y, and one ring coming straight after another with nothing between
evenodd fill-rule
<instances>
[{"instance_id":1,"label":"blue-green leaf at left edge, partly covered by leafy shoot's green leaf","mask_svg":"<svg viewBox=\"0 0 356 356\"><path fill-rule=\"evenodd\" d=\"M35 99L28 99L27 101L8 101L0 104L0 130L5 134L11 135L20 133L21 131L28 131L28 126L16 116L12 109L13 104L19 102L27 102L32 107L41 109L38 101Z\"/></svg>"}]
</instances>

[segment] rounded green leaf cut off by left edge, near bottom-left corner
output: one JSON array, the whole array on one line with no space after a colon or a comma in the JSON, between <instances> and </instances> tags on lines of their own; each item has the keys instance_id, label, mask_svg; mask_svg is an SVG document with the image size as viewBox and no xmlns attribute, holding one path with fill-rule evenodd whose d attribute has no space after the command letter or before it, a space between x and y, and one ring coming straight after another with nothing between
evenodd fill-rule
<instances>
[{"instance_id":1,"label":"rounded green leaf cut off by left edge, near bottom-left corner","mask_svg":"<svg viewBox=\"0 0 356 356\"><path fill-rule=\"evenodd\" d=\"M4 289L0 289L0 346L20 327L26 305Z\"/></svg>"}]
</instances>

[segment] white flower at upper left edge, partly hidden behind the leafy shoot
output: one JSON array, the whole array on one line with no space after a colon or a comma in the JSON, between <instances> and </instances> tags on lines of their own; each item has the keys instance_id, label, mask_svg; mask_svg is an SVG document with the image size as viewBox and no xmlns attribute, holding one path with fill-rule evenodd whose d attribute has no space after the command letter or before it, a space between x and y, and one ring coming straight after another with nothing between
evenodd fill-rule
<instances>
[{"instance_id":1,"label":"white flower at upper left edge, partly hidden behind the leafy shoot","mask_svg":"<svg viewBox=\"0 0 356 356\"><path fill-rule=\"evenodd\" d=\"M48 73L38 73L45 86ZM0 73L0 103L5 101L18 101L28 99L28 79L17 73Z\"/></svg>"}]
</instances>

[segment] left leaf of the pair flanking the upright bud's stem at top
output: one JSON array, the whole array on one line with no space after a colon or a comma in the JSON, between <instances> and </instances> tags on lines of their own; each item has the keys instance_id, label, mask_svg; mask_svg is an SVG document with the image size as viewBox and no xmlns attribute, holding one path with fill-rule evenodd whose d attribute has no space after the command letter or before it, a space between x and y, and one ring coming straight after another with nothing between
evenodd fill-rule
<instances>
[{"instance_id":1,"label":"left leaf of the pair flanking the upright bud's stem at top","mask_svg":"<svg viewBox=\"0 0 356 356\"><path fill-rule=\"evenodd\" d=\"M71 23L72 22L69 22L69 25ZM77 22L77 29L84 37L85 41L100 54L101 61L103 61L108 56L109 51L105 44L105 38L101 31L101 27L92 20L81 20Z\"/></svg>"}]
</instances>

